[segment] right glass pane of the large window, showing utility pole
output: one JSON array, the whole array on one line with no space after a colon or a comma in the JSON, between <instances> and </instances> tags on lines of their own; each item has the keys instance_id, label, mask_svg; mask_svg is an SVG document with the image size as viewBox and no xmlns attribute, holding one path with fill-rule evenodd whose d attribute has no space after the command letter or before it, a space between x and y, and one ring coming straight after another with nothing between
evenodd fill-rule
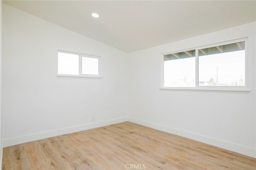
<instances>
[{"instance_id":1,"label":"right glass pane of the large window, showing utility pole","mask_svg":"<svg viewBox=\"0 0 256 170\"><path fill-rule=\"evenodd\" d=\"M198 51L199 86L245 86L245 42Z\"/></svg>"}]
</instances>

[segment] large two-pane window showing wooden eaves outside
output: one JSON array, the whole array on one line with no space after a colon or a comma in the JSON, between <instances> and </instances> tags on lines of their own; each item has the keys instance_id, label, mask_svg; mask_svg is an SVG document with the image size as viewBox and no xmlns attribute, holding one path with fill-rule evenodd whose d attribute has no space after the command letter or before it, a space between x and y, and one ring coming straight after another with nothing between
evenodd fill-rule
<instances>
[{"instance_id":1,"label":"large two-pane window showing wooden eaves outside","mask_svg":"<svg viewBox=\"0 0 256 170\"><path fill-rule=\"evenodd\" d=\"M162 88L246 90L246 39L163 55Z\"/></svg>"}]
</instances>

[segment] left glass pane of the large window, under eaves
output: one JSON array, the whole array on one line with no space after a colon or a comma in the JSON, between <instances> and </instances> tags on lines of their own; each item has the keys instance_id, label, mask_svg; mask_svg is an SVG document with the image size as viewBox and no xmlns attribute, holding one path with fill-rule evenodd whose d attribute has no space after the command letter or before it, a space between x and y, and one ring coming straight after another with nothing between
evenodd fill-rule
<instances>
[{"instance_id":1,"label":"left glass pane of the large window, under eaves","mask_svg":"<svg viewBox=\"0 0 256 170\"><path fill-rule=\"evenodd\" d=\"M195 50L164 55L164 87L195 87Z\"/></svg>"}]
</instances>

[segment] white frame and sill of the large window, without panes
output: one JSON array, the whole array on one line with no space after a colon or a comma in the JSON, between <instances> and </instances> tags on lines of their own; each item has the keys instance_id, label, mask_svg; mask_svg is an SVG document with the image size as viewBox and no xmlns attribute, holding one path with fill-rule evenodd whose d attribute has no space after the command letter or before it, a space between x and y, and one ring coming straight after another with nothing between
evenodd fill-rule
<instances>
[{"instance_id":1,"label":"white frame and sill of the large window, without panes","mask_svg":"<svg viewBox=\"0 0 256 170\"><path fill-rule=\"evenodd\" d=\"M245 86L199 86L198 85L198 50L199 49L210 48L210 47L216 47L216 46L220 46L220 45L238 43L238 42L241 42L241 41L245 41ZM168 54L172 54L172 53L179 53L179 52L182 52L182 51L190 51L190 50L194 50L194 49L196 50L196 57L195 57L195 62L196 62L196 68L195 68L196 69L196 75L195 75L195 77L196 77L196 86L195 87L164 87L164 55L168 55ZM163 89L163 90L191 90L191 91L196 90L196 91L208 91L208 92L249 93L250 90L249 90L248 83L249 83L249 81L248 81L248 37L161 54L161 87L160 87L160 89Z\"/></svg>"}]
</instances>

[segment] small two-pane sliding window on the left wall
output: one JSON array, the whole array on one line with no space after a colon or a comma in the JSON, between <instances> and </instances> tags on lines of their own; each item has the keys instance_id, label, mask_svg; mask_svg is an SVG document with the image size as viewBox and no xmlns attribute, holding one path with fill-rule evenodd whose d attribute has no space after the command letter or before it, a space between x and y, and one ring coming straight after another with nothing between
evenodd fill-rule
<instances>
[{"instance_id":1,"label":"small two-pane sliding window on the left wall","mask_svg":"<svg viewBox=\"0 0 256 170\"><path fill-rule=\"evenodd\" d=\"M100 77L100 57L58 51L58 76Z\"/></svg>"}]
</instances>

